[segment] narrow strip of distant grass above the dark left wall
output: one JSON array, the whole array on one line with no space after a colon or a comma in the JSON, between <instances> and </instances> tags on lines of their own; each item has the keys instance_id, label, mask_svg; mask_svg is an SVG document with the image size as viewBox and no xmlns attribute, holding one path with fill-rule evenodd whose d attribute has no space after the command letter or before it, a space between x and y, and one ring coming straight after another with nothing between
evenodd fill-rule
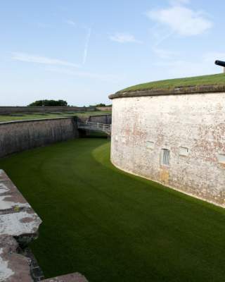
<instances>
[{"instance_id":1,"label":"narrow strip of distant grass above the dark left wall","mask_svg":"<svg viewBox=\"0 0 225 282\"><path fill-rule=\"evenodd\" d=\"M85 112L74 112L74 113L58 113L58 114L18 114L21 116L6 116L0 114L0 123L5 121L25 121L30 119L41 119L41 118L62 118L66 116L78 116L87 118L89 116L99 114L111 114L110 111L85 111Z\"/></svg>"}]
</instances>

